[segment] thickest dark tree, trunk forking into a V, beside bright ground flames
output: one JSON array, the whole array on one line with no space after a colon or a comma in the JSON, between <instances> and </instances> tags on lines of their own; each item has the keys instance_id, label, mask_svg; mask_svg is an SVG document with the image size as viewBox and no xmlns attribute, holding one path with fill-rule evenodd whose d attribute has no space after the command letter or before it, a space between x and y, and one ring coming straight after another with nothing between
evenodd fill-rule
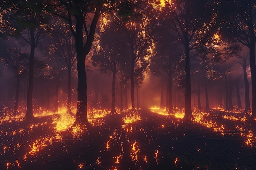
<instances>
[{"instance_id":1,"label":"thickest dark tree, trunk forking into a V, beside bright ground flames","mask_svg":"<svg viewBox=\"0 0 256 170\"><path fill-rule=\"evenodd\" d=\"M85 57L92 47L100 15L108 9L114 8L116 4L112 0L56 0L52 4L56 7L54 14L69 23L70 30L75 39L78 86L76 121L74 124L89 126Z\"/></svg>"}]
</instances>

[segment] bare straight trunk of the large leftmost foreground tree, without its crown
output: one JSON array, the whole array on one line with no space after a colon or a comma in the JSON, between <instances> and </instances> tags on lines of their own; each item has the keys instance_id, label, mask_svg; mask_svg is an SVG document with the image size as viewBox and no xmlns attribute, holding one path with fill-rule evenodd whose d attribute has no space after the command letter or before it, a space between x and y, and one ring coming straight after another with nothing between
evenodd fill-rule
<instances>
[{"instance_id":1,"label":"bare straight trunk of the large leftmost foreground tree, without its crown","mask_svg":"<svg viewBox=\"0 0 256 170\"><path fill-rule=\"evenodd\" d=\"M30 30L31 38L31 50L29 55L29 86L27 90L27 111L25 115L26 121L31 121L34 117L33 115L33 88L34 88L34 56L35 56L35 38L34 31Z\"/></svg>"}]
</instances>

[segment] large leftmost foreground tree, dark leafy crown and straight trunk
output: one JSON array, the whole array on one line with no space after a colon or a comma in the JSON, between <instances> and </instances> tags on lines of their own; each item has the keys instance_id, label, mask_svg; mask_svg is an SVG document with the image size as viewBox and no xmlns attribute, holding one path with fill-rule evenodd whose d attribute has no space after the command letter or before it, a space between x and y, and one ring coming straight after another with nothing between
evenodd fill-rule
<instances>
[{"instance_id":1,"label":"large leftmost foreground tree, dark leafy crown and straight trunk","mask_svg":"<svg viewBox=\"0 0 256 170\"><path fill-rule=\"evenodd\" d=\"M30 46L29 54L29 86L27 91L27 111L25 119L30 121L33 115L33 87L34 87L34 56L39 40L47 29L47 4L42 0L11 0L1 2L2 18L6 27L11 28L9 35L22 38ZM4 27L5 28L5 27Z\"/></svg>"}]
</instances>

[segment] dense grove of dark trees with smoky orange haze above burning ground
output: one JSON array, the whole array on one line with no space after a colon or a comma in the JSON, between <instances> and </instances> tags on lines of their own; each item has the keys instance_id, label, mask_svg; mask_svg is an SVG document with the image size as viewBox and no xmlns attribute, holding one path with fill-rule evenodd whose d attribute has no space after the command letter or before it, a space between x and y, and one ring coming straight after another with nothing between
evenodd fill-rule
<instances>
[{"instance_id":1,"label":"dense grove of dark trees with smoky orange haze above burning ground","mask_svg":"<svg viewBox=\"0 0 256 170\"><path fill-rule=\"evenodd\" d=\"M194 108L237 108L254 120L255 21L253 0L3 0L0 58L11 71L7 77L16 80L10 107L17 115L22 98L25 119L31 121L38 99L33 89L54 80L55 90L40 87L47 91L41 100L49 109L54 91L58 110L58 94L66 93L67 113L77 102L74 125L90 126L87 112L92 98L100 103L98 93L111 115L119 113L117 108L123 112L125 99L131 114L135 106L159 105L170 115L184 108L183 119L190 121ZM97 71L104 76L88 78ZM111 81L97 78L110 74ZM94 81L103 83L92 87ZM145 82L160 94L155 104L144 102L152 93L144 90ZM12 98L9 93L5 98Z\"/></svg>"}]
</instances>

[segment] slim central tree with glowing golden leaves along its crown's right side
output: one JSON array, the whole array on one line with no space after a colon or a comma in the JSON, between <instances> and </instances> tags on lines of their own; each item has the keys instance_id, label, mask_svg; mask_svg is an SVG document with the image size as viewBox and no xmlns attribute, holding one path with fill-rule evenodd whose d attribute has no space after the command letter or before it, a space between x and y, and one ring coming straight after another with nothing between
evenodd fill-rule
<instances>
[{"instance_id":1,"label":"slim central tree with glowing golden leaves along its crown's right side","mask_svg":"<svg viewBox=\"0 0 256 170\"><path fill-rule=\"evenodd\" d=\"M137 3L137 4L136 4ZM155 44L150 38L148 24L149 17L142 12L144 5L141 2L126 1L121 3L121 10L119 11L119 21L124 26L126 31L125 40L127 46L125 56L130 64L130 84L131 84L131 104L132 113L135 111L135 72L136 68L147 68L150 57L154 54ZM137 71L137 73L144 74L144 70ZM137 77L139 75L137 74ZM142 76L143 77L143 76Z\"/></svg>"}]
</instances>

